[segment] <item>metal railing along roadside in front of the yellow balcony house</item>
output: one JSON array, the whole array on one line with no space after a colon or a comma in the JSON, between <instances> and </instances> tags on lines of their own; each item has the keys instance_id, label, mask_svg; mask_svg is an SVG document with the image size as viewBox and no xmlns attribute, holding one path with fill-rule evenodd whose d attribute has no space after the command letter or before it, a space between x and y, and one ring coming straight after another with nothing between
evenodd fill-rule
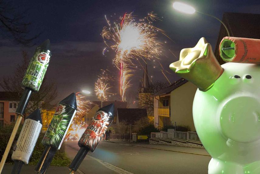
<instances>
[{"instance_id":1,"label":"metal railing along roadside in front of the yellow balcony house","mask_svg":"<svg viewBox=\"0 0 260 174\"><path fill-rule=\"evenodd\" d=\"M173 132L151 132L151 138L164 138L171 140L173 138L180 139L180 140L190 140L200 142L199 136L196 132L181 132L181 131L173 131Z\"/></svg>"}]
</instances>

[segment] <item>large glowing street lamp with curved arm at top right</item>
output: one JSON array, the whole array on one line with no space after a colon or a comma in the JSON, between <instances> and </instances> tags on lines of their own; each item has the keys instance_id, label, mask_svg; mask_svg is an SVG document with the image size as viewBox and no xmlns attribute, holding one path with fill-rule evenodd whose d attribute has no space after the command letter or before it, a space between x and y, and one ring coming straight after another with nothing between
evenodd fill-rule
<instances>
[{"instance_id":1,"label":"large glowing street lamp with curved arm at top right","mask_svg":"<svg viewBox=\"0 0 260 174\"><path fill-rule=\"evenodd\" d=\"M203 15L208 15L210 17L213 17L215 19L217 19L219 22L221 22L223 24L223 26L225 27L225 29L227 30L227 35L230 36L229 34L229 31L227 29L227 26L224 24L223 21L221 21L220 19L218 19L216 16L213 16L213 15L210 15L210 14L207 14L207 13L203 13L203 12L199 12L199 11L196 11L195 8L193 8L192 6L188 5L188 4L184 4L182 2L174 2L173 3L173 8L175 10L178 10L180 12L183 12L183 13L186 13L186 14L194 14L195 12L198 12L198 13L201 13Z\"/></svg>"}]
</instances>

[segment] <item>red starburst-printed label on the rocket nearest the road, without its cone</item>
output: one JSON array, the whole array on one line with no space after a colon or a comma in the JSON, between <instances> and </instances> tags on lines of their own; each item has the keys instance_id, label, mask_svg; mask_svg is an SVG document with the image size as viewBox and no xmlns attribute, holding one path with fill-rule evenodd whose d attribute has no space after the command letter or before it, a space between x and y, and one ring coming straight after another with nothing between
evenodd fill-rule
<instances>
[{"instance_id":1,"label":"red starburst-printed label on the rocket nearest the road, without its cone","mask_svg":"<svg viewBox=\"0 0 260 174\"><path fill-rule=\"evenodd\" d=\"M98 111L78 141L78 145L80 147L86 146L91 152L94 152L112 121L113 117L110 114Z\"/></svg>"}]
</instances>

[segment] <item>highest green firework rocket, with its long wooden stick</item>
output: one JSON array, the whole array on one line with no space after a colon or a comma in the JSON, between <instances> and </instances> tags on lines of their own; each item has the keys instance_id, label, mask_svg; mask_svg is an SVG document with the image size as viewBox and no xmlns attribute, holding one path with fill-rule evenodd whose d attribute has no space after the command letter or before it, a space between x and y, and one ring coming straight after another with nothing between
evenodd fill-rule
<instances>
[{"instance_id":1,"label":"highest green firework rocket, with its long wooden stick","mask_svg":"<svg viewBox=\"0 0 260 174\"><path fill-rule=\"evenodd\" d=\"M22 87L24 88L24 92L16 109L16 124L14 126L9 142L5 149L5 153L0 163L0 173L2 172L2 169L4 167L5 160L12 146L12 142L15 138L18 127L21 123L30 96L32 92L39 91L40 86L43 82L43 78L49 66L50 56L50 40L47 39L36 48L34 55L29 62L29 66L26 70L25 76L23 77Z\"/></svg>"}]
</instances>

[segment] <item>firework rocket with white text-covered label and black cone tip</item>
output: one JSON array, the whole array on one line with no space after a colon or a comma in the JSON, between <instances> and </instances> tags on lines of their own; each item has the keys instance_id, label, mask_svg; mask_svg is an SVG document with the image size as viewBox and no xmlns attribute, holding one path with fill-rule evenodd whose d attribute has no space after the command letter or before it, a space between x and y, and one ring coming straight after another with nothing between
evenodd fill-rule
<instances>
[{"instance_id":1,"label":"firework rocket with white text-covered label and black cone tip","mask_svg":"<svg viewBox=\"0 0 260 174\"><path fill-rule=\"evenodd\" d=\"M19 174L23 165L28 164L41 128L40 109L36 109L24 121L22 131L16 143L16 150L12 154L12 160L15 162L12 174Z\"/></svg>"}]
</instances>

